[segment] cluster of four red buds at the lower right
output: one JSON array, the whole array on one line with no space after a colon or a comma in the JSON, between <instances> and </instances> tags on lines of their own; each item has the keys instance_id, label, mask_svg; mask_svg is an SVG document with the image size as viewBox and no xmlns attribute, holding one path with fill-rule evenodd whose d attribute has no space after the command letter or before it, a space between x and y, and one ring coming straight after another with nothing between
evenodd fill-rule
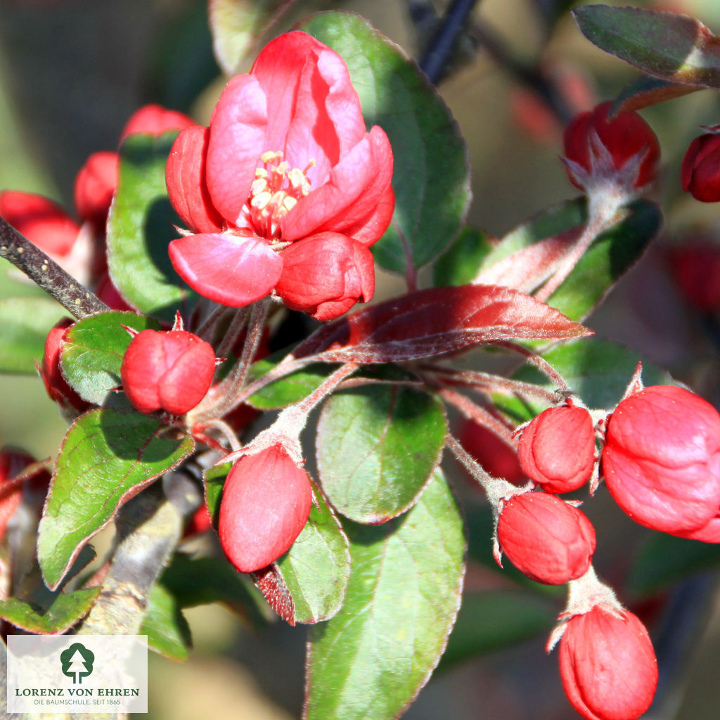
<instances>
[{"instance_id":1,"label":"cluster of four red buds at the lower right","mask_svg":"<svg viewBox=\"0 0 720 720\"><path fill-rule=\"evenodd\" d=\"M600 451L598 451L598 448ZM559 497L605 480L616 503L655 530L720 542L720 415L683 387L643 388L637 375L615 408L572 399L521 427L523 487L485 477L495 508L495 557L570 595L549 647L588 720L631 720L654 696L657 662L647 631L592 566L595 530L577 500Z\"/></svg>"}]
</instances>

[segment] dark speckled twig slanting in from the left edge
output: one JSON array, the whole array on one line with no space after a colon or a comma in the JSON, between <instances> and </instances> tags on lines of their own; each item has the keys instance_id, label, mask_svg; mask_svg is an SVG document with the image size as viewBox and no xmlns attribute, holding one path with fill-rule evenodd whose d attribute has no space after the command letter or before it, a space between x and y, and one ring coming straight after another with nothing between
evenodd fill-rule
<instances>
[{"instance_id":1,"label":"dark speckled twig slanting in from the left edge","mask_svg":"<svg viewBox=\"0 0 720 720\"><path fill-rule=\"evenodd\" d=\"M80 320L110 308L66 273L55 261L0 217L0 257L22 270L32 282L52 295L74 318Z\"/></svg>"}]
</instances>

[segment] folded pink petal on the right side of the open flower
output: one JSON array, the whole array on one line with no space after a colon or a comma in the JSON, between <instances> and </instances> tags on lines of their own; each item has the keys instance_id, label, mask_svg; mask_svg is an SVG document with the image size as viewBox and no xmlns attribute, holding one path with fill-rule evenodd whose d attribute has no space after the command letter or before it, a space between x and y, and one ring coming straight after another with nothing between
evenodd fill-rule
<instances>
[{"instance_id":1,"label":"folded pink petal on the right side of the open flower","mask_svg":"<svg viewBox=\"0 0 720 720\"><path fill-rule=\"evenodd\" d=\"M365 245L374 243L390 223L392 148L384 130L373 127L333 168L327 183L304 197L284 217L283 240L312 233L347 233ZM383 227L384 225L384 227Z\"/></svg>"}]
</instances>

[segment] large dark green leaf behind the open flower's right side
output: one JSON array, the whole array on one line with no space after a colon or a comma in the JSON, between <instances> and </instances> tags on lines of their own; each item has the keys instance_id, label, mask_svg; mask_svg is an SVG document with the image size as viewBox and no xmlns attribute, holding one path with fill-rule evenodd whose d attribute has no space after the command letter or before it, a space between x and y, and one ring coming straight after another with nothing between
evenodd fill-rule
<instances>
[{"instance_id":1,"label":"large dark green leaf behind the open flower's right side","mask_svg":"<svg viewBox=\"0 0 720 720\"><path fill-rule=\"evenodd\" d=\"M443 99L400 48L356 15L327 12L300 25L348 64L368 127L392 145L395 215L372 246L385 269L428 264L462 228L470 201L467 148Z\"/></svg>"}]
</instances>

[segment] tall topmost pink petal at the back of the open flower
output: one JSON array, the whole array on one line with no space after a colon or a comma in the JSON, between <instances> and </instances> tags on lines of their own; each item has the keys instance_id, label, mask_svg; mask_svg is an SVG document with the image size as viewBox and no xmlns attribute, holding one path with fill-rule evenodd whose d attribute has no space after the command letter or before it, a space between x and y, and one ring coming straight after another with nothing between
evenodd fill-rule
<instances>
[{"instance_id":1,"label":"tall topmost pink petal at the back of the open flower","mask_svg":"<svg viewBox=\"0 0 720 720\"><path fill-rule=\"evenodd\" d=\"M268 150L283 150L291 167L322 184L365 134L360 101L345 61L305 32L280 35L252 73L268 98Z\"/></svg>"}]
</instances>

